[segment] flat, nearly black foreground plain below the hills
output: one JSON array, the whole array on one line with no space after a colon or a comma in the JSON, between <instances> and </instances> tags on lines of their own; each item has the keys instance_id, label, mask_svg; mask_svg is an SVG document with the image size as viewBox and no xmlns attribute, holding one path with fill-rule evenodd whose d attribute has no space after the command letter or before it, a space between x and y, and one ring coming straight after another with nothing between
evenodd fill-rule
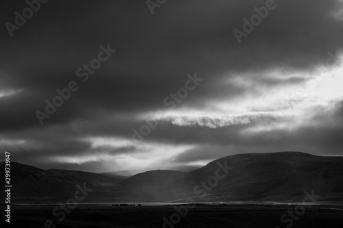
<instances>
[{"instance_id":1,"label":"flat, nearly black foreground plain below the hills","mask_svg":"<svg viewBox=\"0 0 343 228\"><path fill-rule=\"evenodd\" d=\"M12 205L11 223L6 223L4 227L45 227L47 220L53 221L56 227L316 228L343 225L343 210L318 205L305 208L305 212L298 210L300 216L294 212L295 206L286 205L195 205L194 208L185 205L78 205L69 214L66 213L61 222L58 222L58 218L62 218L62 214L52 215L55 207L56 205ZM292 215L283 216L288 213ZM165 223L163 217L169 222ZM170 220L175 224L170 223ZM0 224L3 224L3 219Z\"/></svg>"}]
</instances>

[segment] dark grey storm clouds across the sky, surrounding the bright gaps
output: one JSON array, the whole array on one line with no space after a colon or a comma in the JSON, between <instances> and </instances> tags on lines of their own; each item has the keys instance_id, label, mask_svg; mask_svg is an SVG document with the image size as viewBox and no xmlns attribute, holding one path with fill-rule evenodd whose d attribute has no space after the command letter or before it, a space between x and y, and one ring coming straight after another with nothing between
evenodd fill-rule
<instances>
[{"instance_id":1,"label":"dark grey storm clouds across the sky, surrounding the bright gaps","mask_svg":"<svg viewBox=\"0 0 343 228\"><path fill-rule=\"evenodd\" d=\"M242 29L242 19L249 19L255 14L254 8L265 5L265 1L169 1L153 16L145 1L48 1L14 31L12 38L5 26L0 31L0 92L19 90L0 97L0 136L31 140L34 152L30 155L78 155L91 150L89 143L80 142L86 136L132 138L132 129L144 124L136 115L166 110L163 99L185 84L188 73L197 72L204 83L179 107L206 109L215 100L302 84L301 73L325 66L327 53L343 48L342 20L333 16L341 4L335 0L276 4L277 8L239 44L233 29ZM25 7L25 2L3 3L1 21L14 23L14 12ZM75 72L97 58L99 46L107 44L117 52L82 83ZM298 76L265 77L268 70L296 72ZM252 86L229 80L240 75L252 81ZM43 111L45 99L51 101L56 89L66 88L71 80L77 81L80 89L40 126L36 110ZM335 112L340 123L342 107L342 103L337 105ZM287 150L287 144L293 143L292 148L309 152L315 145L332 151L342 148L340 124L332 127L317 121L293 136L285 130L263 136L239 134L248 127L278 122L273 116L255 116L250 121L248 125L218 129L160 121L145 140L209 142L215 145L216 156L222 153L220 147L227 151L229 146L236 149L233 153L263 150L263 144L271 144L270 150L275 151ZM318 127L316 134L309 134ZM206 151L196 153L192 149L178 160L201 160L206 158Z\"/></svg>"}]
</instances>

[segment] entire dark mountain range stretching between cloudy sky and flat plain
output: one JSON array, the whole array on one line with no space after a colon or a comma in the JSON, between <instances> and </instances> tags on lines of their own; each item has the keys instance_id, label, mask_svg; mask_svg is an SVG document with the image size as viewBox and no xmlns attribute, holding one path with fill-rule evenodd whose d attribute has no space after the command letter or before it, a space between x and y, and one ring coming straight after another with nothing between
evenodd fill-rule
<instances>
[{"instance_id":1,"label":"entire dark mountain range stretching between cloudy sky and flat plain","mask_svg":"<svg viewBox=\"0 0 343 228\"><path fill-rule=\"evenodd\" d=\"M343 201L343 157L300 152L230 155L189 173L151 170L127 179L15 162L11 170L17 201L65 201L83 183L93 189L85 202L298 202L312 191L318 201Z\"/></svg>"}]
</instances>

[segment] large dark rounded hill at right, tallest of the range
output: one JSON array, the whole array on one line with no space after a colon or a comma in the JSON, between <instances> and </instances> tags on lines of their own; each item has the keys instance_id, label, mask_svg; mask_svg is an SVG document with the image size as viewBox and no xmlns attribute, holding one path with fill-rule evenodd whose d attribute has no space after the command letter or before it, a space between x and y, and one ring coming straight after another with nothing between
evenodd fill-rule
<instances>
[{"instance_id":1,"label":"large dark rounded hill at right, tallest of the range","mask_svg":"<svg viewBox=\"0 0 343 228\"><path fill-rule=\"evenodd\" d=\"M324 200L343 199L343 157L299 152L252 153L223 157L189 173L198 182L213 175L217 163L233 170L204 201L301 201L314 190Z\"/></svg>"}]
</instances>

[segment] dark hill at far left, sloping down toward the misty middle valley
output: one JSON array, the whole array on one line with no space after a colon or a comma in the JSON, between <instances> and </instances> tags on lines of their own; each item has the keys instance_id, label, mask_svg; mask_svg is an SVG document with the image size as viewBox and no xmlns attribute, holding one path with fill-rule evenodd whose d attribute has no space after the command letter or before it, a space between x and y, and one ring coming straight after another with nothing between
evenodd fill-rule
<instances>
[{"instance_id":1,"label":"dark hill at far left, sloping down toward the misty middle valley","mask_svg":"<svg viewBox=\"0 0 343 228\"><path fill-rule=\"evenodd\" d=\"M5 162L0 162L0 169L5 173ZM19 201L68 199L77 190L76 185L82 186L83 183L99 195L106 194L110 192L110 187L125 179L75 170L43 170L17 162L11 162L10 171L11 197ZM4 175L0 177L0 181L5 183Z\"/></svg>"}]
</instances>

